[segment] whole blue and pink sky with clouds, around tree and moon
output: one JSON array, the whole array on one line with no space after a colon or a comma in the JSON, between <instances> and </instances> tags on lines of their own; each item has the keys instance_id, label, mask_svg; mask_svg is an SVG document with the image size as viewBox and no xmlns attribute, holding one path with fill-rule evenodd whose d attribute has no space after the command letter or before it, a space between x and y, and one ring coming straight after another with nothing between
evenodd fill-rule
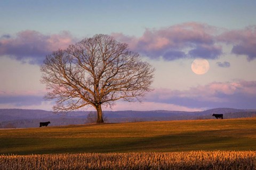
<instances>
[{"instance_id":1,"label":"whole blue and pink sky with clouds, around tree and moon","mask_svg":"<svg viewBox=\"0 0 256 170\"><path fill-rule=\"evenodd\" d=\"M154 91L114 111L256 109L255 8L246 0L0 1L0 108L51 111L40 82L45 56L102 33L156 69ZM197 58L209 71L191 70Z\"/></svg>"}]
</instances>

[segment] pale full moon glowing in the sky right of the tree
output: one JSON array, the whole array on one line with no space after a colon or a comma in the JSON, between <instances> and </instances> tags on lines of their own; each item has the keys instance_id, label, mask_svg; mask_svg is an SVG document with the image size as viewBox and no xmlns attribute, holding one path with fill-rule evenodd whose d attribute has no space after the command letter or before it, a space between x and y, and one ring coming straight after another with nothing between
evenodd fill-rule
<instances>
[{"instance_id":1,"label":"pale full moon glowing in the sky right of the tree","mask_svg":"<svg viewBox=\"0 0 256 170\"><path fill-rule=\"evenodd\" d=\"M196 74L205 74L209 69L209 62L203 58L196 58L191 64L191 70Z\"/></svg>"}]
</instances>

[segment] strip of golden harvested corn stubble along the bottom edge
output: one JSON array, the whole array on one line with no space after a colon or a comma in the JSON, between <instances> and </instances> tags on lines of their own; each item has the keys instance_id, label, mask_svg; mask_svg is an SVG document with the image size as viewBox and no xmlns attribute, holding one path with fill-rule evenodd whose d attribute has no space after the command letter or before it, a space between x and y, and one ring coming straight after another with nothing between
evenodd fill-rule
<instances>
[{"instance_id":1,"label":"strip of golden harvested corn stubble along the bottom edge","mask_svg":"<svg viewBox=\"0 0 256 170\"><path fill-rule=\"evenodd\" d=\"M1 155L0 169L256 169L256 152Z\"/></svg>"}]
</instances>

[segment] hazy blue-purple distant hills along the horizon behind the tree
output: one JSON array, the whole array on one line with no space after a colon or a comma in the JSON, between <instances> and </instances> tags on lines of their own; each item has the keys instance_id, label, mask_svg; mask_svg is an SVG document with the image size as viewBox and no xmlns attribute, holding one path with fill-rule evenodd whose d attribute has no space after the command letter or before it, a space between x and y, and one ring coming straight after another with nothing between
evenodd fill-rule
<instances>
[{"instance_id":1,"label":"hazy blue-purple distant hills along the horizon behind the tree","mask_svg":"<svg viewBox=\"0 0 256 170\"><path fill-rule=\"evenodd\" d=\"M49 126L88 123L90 111L75 111L55 114L50 111L33 109L0 109L0 128L33 128L39 122L50 121ZM183 111L105 111L105 122L141 122L213 119L212 114L223 114L224 118L253 117L256 110L214 108L202 112Z\"/></svg>"}]
</instances>

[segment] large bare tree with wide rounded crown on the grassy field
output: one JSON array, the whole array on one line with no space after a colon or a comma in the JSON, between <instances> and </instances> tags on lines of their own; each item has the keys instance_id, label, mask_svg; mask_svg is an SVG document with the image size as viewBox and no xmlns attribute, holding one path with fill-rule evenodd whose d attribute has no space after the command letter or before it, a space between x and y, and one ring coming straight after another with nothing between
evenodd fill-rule
<instances>
[{"instance_id":1,"label":"large bare tree with wide rounded crown on the grassy field","mask_svg":"<svg viewBox=\"0 0 256 170\"><path fill-rule=\"evenodd\" d=\"M111 108L119 99L141 101L152 90L154 70L127 44L95 35L47 55L41 82L51 90L45 98L55 100L55 112L91 105L97 110L97 123L103 123L101 106Z\"/></svg>"}]
</instances>

